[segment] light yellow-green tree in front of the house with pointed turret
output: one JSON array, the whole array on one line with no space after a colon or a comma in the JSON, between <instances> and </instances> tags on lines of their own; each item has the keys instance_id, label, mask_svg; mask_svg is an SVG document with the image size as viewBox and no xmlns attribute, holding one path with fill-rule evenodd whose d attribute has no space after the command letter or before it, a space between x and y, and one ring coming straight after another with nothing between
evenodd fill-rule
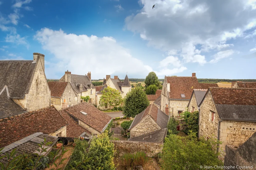
<instances>
[{"instance_id":1,"label":"light yellow-green tree in front of the house with pointed turret","mask_svg":"<svg viewBox=\"0 0 256 170\"><path fill-rule=\"evenodd\" d=\"M118 106L122 103L122 96L120 91L113 89L111 87L106 87L102 90L102 96L100 97L100 106L105 106L109 104L111 106Z\"/></svg>"}]
</instances>

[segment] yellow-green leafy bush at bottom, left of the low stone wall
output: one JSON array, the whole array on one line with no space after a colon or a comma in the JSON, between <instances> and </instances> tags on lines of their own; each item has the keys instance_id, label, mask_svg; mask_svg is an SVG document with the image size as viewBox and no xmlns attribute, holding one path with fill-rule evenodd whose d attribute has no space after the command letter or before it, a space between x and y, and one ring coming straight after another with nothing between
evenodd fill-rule
<instances>
[{"instance_id":1,"label":"yellow-green leafy bush at bottom, left of the low stone wall","mask_svg":"<svg viewBox=\"0 0 256 170\"><path fill-rule=\"evenodd\" d=\"M93 161L88 164L90 169L115 169L114 143L110 142L108 133L92 138L88 155L93 158Z\"/></svg>"}]
</instances>

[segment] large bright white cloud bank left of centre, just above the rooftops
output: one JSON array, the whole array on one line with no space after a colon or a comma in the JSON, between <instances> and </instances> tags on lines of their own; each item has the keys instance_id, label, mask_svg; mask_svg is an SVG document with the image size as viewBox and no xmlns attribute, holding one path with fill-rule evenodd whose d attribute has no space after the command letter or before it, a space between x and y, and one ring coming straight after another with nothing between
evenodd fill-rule
<instances>
[{"instance_id":1,"label":"large bright white cloud bank left of centre, just above the rooftops","mask_svg":"<svg viewBox=\"0 0 256 170\"><path fill-rule=\"evenodd\" d=\"M34 38L58 61L52 62L47 69L51 77L54 76L52 73L57 75L59 71L64 74L66 70L73 74L91 71L92 79L102 79L106 74L125 75L126 72L129 77L144 77L152 71L150 66L132 57L113 37L66 34L62 30L44 28L37 31Z\"/></svg>"}]
</instances>

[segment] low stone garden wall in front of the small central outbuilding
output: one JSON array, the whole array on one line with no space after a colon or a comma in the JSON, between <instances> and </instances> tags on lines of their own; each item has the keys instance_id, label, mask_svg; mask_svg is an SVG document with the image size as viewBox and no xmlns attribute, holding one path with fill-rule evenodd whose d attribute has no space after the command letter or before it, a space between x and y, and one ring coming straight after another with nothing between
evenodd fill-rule
<instances>
[{"instance_id":1,"label":"low stone garden wall in front of the small central outbuilding","mask_svg":"<svg viewBox=\"0 0 256 170\"><path fill-rule=\"evenodd\" d=\"M124 153L136 153L138 151L146 152L147 156L155 156L163 149L163 143L121 140L112 140L112 142L114 142L114 147L118 151L119 156L123 155Z\"/></svg>"}]
</instances>

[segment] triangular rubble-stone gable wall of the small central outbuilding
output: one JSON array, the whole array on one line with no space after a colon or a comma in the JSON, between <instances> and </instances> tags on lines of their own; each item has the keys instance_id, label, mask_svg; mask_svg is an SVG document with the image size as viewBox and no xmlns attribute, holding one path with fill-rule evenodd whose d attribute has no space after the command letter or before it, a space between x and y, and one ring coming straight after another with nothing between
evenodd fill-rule
<instances>
[{"instance_id":1,"label":"triangular rubble-stone gable wall of the small central outbuilding","mask_svg":"<svg viewBox=\"0 0 256 170\"><path fill-rule=\"evenodd\" d=\"M131 129L130 131L131 138L138 135L145 134L145 133L149 133L158 129L161 129L161 127L157 125L157 123L152 119L150 115L147 115L145 118L143 118L142 121L140 121L137 125L135 125Z\"/></svg>"}]
</instances>

